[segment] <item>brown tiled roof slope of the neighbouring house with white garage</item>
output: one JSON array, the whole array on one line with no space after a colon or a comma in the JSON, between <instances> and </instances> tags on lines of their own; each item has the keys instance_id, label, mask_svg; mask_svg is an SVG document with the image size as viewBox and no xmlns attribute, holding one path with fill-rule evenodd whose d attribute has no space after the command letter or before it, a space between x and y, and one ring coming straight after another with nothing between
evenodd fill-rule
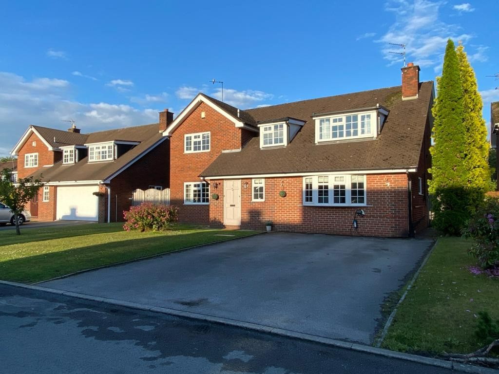
<instances>
[{"instance_id":1,"label":"brown tiled roof slope of the neighbouring house with white garage","mask_svg":"<svg viewBox=\"0 0 499 374\"><path fill-rule=\"evenodd\" d=\"M112 162L87 162L88 158L78 161L76 164L63 165L56 163L49 168L41 168L33 174L50 182L68 181L104 181L118 170L128 165L136 157L142 155L150 147L160 141L168 141L159 133L159 124L127 127L124 129L100 131L86 135L85 143L98 143L111 140L136 141L140 144L134 146L130 151Z\"/></svg>"}]
</instances>

